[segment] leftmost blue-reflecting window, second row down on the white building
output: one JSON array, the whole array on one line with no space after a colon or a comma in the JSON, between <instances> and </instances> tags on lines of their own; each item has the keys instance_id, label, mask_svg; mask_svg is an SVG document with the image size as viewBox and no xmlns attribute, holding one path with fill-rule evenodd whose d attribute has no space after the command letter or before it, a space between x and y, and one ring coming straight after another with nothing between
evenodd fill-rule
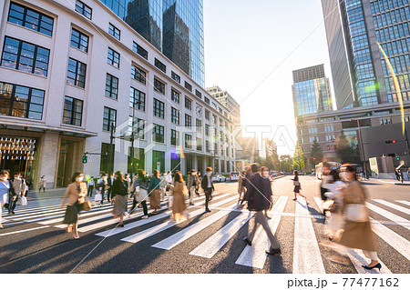
<instances>
[{"instance_id":1,"label":"leftmost blue-reflecting window, second row down on the white building","mask_svg":"<svg viewBox=\"0 0 410 290\"><path fill-rule=\"evenodd\" d=\"M5 37L2 66L30 74L47 76L50 51L41 46Z\"/></svg>"}]
</instances>

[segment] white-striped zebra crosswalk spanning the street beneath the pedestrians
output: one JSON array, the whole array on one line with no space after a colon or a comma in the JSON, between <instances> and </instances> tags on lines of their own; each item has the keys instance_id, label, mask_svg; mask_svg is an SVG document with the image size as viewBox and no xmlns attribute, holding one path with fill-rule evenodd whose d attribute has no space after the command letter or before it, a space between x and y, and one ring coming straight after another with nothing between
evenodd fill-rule
<instances>
[{"instance_id":1,"label":"white-striped zebra crosswalk spanning the street beneath the pedestrians","mask_svg":"<svg viewBox=\"0 0 410 290\"><path fill-rule=\"evenodd\" d=\"M179 246L190 245L186 255L199 259L214 259L222 254L222 249L233 245L230 241L239 240L246 234L244 225L251 223L253 216L248 210L237 209L238 195L230 193L215 193L210 202L211 213L204 213L204 196L194 198L194 204L188 207L188 221L173 222L169 219L172 211L168 208L168 201L161 203L161 210L157 215L149 215L148 219L141 219L142 209L138 208L133 215L125 218L125 226L118 227L118 219L113 218L112 205L94 205L88 212L81 213L78 231L82 235L97 238L109 238L116 243L132 246L147 241L151 248L165 252L178 249ZM64 229L62 224L65 209L59 207L59 201L47 201L41 205L17 206L15 215L2 215L5 228L8 225L33 224L36 227L11 230L2 235L18 235L44 228ZM311 203L312 202L312 203ZM128 205L132 202L128 201ZM291 230L287 235L292 235L292 245L282 245L286 251L292 253L293 274L325 274L329 272L327 258L323 254L323 234L318 228L323 228L324 217L318 214L322 200L317 197L299 197L292 201L287 195L274 197L274 205L268 213L271 219L268 225L272 233L281 239L282 227ZM401 255L406 261L410 260L410 202L405 200L372 199L368 201L367 208L371 215L374 234L387 248L395 250L395 255ZM292 223L290 223L292 220ZM205 229L212 229L211 231ZM162 233L162 235L159 235ZM206 234L204 234L206 233ZM292 234L289 234L292 233ZM198 239L197 235L204 235ZM158 238L160 236L160 238ZM189 244L187 242L190 241ZM242 242L241 242L242 243ZM254 235L252 245L241 245L239 254L231 260L232 266L251 267L263 269L269 263L265 250L270 248L270 242L265 231L260 228ZM282 250L283 252L283 250ZM365 270L362 265L369 260L361 250L351 250L347 253L351 261L349 265L352 272L379 273L378 271ZM381 257L382 270L380 273L391 274L394 267L389 259ZM390 270L392 268L392 270ZM410 269L407 269L410 271Z\"/></svg>"}]
</instances>

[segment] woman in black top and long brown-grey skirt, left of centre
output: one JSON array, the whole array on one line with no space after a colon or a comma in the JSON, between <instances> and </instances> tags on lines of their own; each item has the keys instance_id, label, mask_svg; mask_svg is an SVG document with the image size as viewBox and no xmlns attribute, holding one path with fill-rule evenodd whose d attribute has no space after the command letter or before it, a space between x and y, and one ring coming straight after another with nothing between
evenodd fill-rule
<instances>
[{"instance_id":1,"label":"woman in black top and long brown-grey skirt, left of centre","mask_svg":"<svg viewBox=\"0 0 410 290\"><path fill-rule=\"evenodd\" d=\"M128 182L122 172L117 171L111 191L111 205L114 205L112 214L119 217L120 227L124 227L124 213L127 213Z\"/></svg>"}]
</instances>

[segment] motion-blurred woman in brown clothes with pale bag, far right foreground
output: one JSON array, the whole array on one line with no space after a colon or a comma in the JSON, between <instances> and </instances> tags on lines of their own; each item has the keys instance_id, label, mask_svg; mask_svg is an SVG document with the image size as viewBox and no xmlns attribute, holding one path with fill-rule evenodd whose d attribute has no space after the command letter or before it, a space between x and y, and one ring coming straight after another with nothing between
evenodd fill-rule
<instances>
[{"instance_id":1,"label":"motion-blurred woman in brown clothes with pale bag, far right foreground","mask_svg":"<svg viewBox=\"0 0 410 290\"><path fill-rule=\"evenodd\" d=\"M364 269L380 270L382 265L378 261L369 219L369 212L366 208L367 192L359 181L357 181L356 169L354 165L346 166L347 185L342 189L343 205L342 213L345 218L343 234L338 243L343 245L343 252L347 248L363 250L364 255L371 259L369 265L362 265Z\"/></svg>"}]
</instances>

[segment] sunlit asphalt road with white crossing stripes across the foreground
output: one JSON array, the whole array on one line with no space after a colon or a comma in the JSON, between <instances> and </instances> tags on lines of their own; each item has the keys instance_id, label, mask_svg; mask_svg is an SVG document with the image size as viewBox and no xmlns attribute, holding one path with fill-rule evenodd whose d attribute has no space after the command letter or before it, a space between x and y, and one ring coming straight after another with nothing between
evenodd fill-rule
<instances>
[{"instance_id":1,"label":"sunlit asphalt road with white crossing stripes across the foreground","mask_svg":"<svg viewBox=\"0 0 410 290\"><path fill-rule=\"evenodd\" d=\"M251 213L235 210L237 183L217 184L203 211L203 194L189 208L190 219L169 223L167 208L141 220L138 210L124 228L111 206L95 207L80 218L80 239L61 225L61 199L52 197L18 206L3 214L0 230L0 273L361 273L363 253L336 254L323 235L317 205L319 183L302 176L302 194L292 201L291 176L273 183L275 207L270 226L282 255L267 256L267 237L257 233L250 247L242 238L253 224ZM410 186L364 182L382 273L410 273ZM53 195L54 196L54 195ZM316 197L316 199L315 199ZM202 204L201 204L202 202ZM166 203L164 203L165 205Z\"/></svg>"}]
</instances>

